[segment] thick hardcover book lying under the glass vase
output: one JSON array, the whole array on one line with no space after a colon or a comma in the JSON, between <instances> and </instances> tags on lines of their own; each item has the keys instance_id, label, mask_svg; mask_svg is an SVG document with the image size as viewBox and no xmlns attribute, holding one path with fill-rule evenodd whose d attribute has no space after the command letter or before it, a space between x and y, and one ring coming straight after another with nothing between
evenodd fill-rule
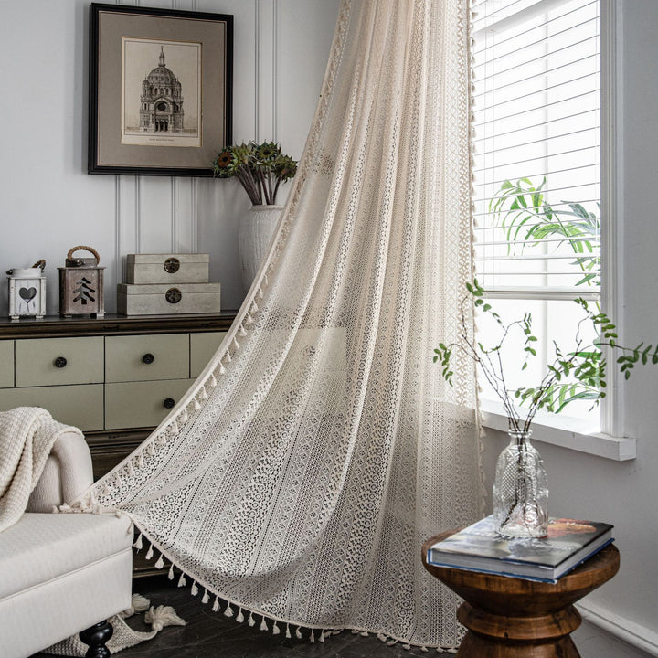
<instances>
[{"instance_id":1,"label":"thick hardcover book lying under the glass vase","mask_svg":"<svg viewBox=\"0 0 658 658\"><path fill-rule=\"evenodd\" d=\"M614 541L611 533L610 524L551 518L546 537L507 537L495 531L492 515L432 545L427 561L437 567L557 582Z\"/></svg>"}]
</instances>

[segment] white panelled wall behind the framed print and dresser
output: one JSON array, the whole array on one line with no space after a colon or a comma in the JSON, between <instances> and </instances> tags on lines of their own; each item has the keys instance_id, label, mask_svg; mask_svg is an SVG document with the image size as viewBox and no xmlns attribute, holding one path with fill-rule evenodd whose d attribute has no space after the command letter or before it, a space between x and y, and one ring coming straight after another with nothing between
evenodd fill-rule
<instances>
[{"instance_id":1,"label":"white panelled wall behind the framed print and dresser","mask_svg":"<svg viewBox=\"0 0 658 658\"><path fill-rule=\"evenodd\" d=\"M233 140L278 141L284 153L300 157L338 0L136 4L232 14ZM45 258L48 313L57 313L57 267L71 247L90 245L107 267L105 309L112 313L125 254L207 251L210 280L222 283L222 307L238 308L238 219L249 199L236 181L86 173L89 5L0 3L0 271ZM281 188L280 201L289 186ZM6 304L1 285L0 313Z\"/></svg>"}]
</instances>

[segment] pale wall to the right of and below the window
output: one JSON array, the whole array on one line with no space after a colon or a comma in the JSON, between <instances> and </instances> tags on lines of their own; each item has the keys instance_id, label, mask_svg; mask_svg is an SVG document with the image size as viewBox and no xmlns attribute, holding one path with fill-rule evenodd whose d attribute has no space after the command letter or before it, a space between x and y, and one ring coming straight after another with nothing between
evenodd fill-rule
<instances>
[{"instance_id":1,"label":"pale wall to the right of and below the window","mask_svg":"<svg viewBox=\"0 0 658 658\"><path fill-rule=\"evenodd\" d=\"M616 162L620 186L623 257L618 281L624 342L658 341L658 2L618 0ZM645 649L658 655L658 367L636 367L621 385L623 430L638 440L637 458L611 462L537 442L547 466L550 514L608 521L621 551L620 573L589 595L604 617L621 617L630 635L648 638ZM485 471L506 440L488 432ZM626 624L623 620L630 620ZM635 628L632 624L642 628ZM607 658L606 654L601 654ZM612 653L610 653L610 656ZM616 654L615 654L616 655ZM629 654L631 655L631 654ZM633 654L634 655L634 654ZM638 655L644 655L640 653Z\"/></svg>"}]
</instances>

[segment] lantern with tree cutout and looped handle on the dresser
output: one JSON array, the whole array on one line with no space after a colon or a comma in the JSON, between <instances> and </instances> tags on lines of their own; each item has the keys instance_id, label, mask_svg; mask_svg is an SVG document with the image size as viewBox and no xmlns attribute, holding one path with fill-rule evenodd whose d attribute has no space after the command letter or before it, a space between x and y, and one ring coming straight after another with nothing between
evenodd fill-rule
<instances>
[{"instance_id":1,"label":"lantern with tree cutout and looped handle on the dresser","mask_svg":"<svg viewBox=\"0 0 658 658\"><path fill-rule=\"evenodd\" d=\"M73 258L76 251L89 251L93 258ZM96 249L80 245L67 254L65 267L59 271L59 315L93 315L103 317L103 270Z\"/></svg>"}]
</instances>

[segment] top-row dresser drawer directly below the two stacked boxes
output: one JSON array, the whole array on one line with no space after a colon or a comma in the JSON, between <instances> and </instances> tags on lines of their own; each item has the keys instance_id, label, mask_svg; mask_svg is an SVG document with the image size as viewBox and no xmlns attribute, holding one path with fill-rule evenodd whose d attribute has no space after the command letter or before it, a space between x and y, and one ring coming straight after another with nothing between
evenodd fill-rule
<instances>
[{"instance_id":1,"label":"top-row dresser drawer directly below the two stacked boxes","mask_svg":"<svg viewBox=\"0 0 658 658\"><path fill-rule=\"evenodd\" d=\"M109 336L105 339L105 381L188 377L189 334Z\"/></svg>"}]
</instances>

